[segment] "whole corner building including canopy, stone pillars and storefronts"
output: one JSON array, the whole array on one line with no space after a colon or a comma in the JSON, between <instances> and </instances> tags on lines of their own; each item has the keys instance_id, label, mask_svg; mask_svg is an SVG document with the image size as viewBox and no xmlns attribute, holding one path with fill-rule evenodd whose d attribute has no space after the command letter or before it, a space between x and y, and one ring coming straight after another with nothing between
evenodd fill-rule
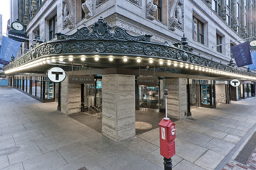
<instances>
[{"instance_id":1,"label":"whole corner building including canopy, stone pillars and storefronts","mask_svg":"<svg viewBox=\"0 0 256 170\"><path fill-rule=\"evenodd\" d=\"M230 46L256 36L255 0L19 0L12 4L11 22L19 20L26 26L29 41L23 47L30 49L4 69L12 86L47 100L51 94L45 73L56 65L65 68L67 78L54 85L59 110L71 114L88 105L100 107L102 133L116 141L135 135L135 110L165 109L163 89L170 93L168 114L176 118L190 116L191 107L216 108L218 102L255 95L255 72L230 62ZM93 88L70 83L70 75L94 76L92 97ZM141 76L157 77L158 83L138 84ZM230 87L233 78L241 86ZM36 84L34 90L28 81Z\"/></svg>"}]
</instances>

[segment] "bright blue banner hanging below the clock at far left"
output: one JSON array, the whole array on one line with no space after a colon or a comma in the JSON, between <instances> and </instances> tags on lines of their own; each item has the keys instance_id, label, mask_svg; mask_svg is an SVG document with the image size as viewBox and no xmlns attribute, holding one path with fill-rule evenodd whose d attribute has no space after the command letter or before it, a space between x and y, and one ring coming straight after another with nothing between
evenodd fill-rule
<instances>
[{"instance_id":1,"label":"bright blue banner hanging below the clock at far left","mask_svg":"<svg viewBox=\"0 0 256 170\"><path fill-rule=\"evenodd\" d=\"M20 49L20 44L21 42L9 39L6 36L2 36L0 64L8 64L11 61L12 55L16 57Z\"/></svg>"}]
</instances>

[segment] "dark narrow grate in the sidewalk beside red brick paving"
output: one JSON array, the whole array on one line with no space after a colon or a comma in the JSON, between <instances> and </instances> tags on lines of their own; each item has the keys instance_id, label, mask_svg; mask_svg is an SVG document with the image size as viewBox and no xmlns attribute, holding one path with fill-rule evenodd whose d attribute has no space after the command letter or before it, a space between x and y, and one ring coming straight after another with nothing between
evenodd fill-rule
<instances>
[{"instance_id":1,"label":"dark narrow grate in the sidewalk beside red brick paving","mask_svg":"<svg viewBox=\"0 0 256 170\"><path fill-rule=\"evenodd\" d=\"M252 152L255 150L256 147L256 132L252 134L252 137L249 139L244 148L240 151L240 153L236 156L236 161L239 163L247 164Z\"/></svg>"}]
</instances>

